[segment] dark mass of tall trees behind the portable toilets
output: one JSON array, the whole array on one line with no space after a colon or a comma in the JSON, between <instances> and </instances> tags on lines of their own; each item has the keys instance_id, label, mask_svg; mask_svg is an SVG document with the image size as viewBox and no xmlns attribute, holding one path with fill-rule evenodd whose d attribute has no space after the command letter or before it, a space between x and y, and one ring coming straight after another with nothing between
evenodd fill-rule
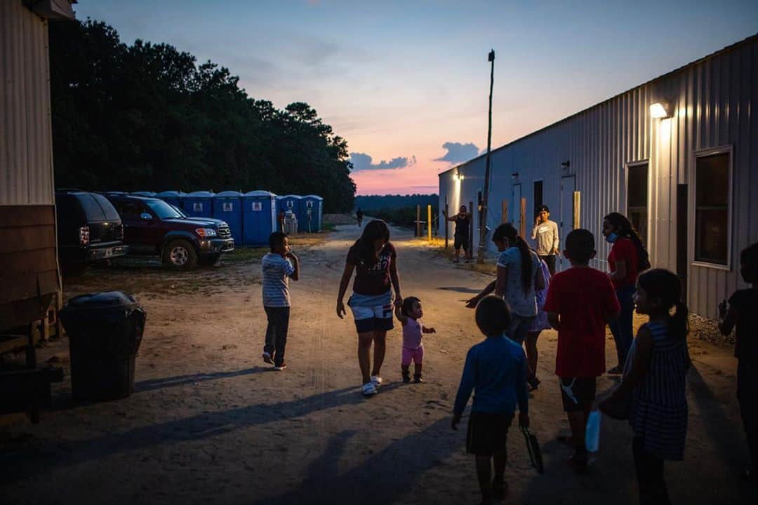
<instances>
[{"instance_id":1,"label":"dark mass of tall trees behind the portable toilets","mask_svg":"<svg viewBox=\"0 0 758 505\"><path fill-rule=\"evenodd\" d=\"M56 187L316 194L351 210L345 139L308 104L250 98L224 67L121 42L92 20L50 23Z\"/></svg>"}]
</instances>

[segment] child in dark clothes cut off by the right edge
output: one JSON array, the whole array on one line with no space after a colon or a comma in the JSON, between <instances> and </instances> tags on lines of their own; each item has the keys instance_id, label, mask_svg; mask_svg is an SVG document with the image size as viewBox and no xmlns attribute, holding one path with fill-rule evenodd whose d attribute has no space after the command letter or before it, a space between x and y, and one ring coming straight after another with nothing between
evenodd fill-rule
<instances>
[{"instance_id":1,"label":"child in dark clothes cut off by the right edge","mask_svg":"<svg viewBox=\"0 0 758 505\"><path fill-rule=\"evenodd\" d=\"M740 254L740 273L750 288L738 289L719 304L719 329L729 335L737 327L737 400L747 435L750 462L743 477L756 482L758 465L758 242Z\"/></svg>"}]
</instances>

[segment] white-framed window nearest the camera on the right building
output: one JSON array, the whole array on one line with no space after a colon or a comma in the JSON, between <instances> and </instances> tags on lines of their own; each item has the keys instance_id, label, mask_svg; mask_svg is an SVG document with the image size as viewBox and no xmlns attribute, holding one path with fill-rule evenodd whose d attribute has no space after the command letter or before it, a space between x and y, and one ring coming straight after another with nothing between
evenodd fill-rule
<instances>
[{"instance_id":1,"label":"white-framed window nearest the camera on the right building","mask_svg":"<svg viewBox=\"0 0 758 505\"><path fill-rule=\"evenodd\" d=\"M729 264L729 156L695 158L695 260L703 263Z\"/></svg>"}]
</instances>

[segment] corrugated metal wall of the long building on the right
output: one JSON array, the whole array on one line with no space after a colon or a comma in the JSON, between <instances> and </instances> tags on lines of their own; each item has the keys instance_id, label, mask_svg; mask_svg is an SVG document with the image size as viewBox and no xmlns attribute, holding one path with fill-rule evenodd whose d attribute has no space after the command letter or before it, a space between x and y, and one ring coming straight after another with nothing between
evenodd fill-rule
<instances>
[{"instance_id":1,"label":"corrugated metal wall of the long building on the right","mask_svg":"<svg viewBox=\"0 0 758 505\"><path fill-rule=\"evenodd\" d=\"M650 104L662 99L672 101L674 117L650 118ZM536 179L543 179L543 202L550 206L551 218L556 222L568 219L560 215L560 185L561 176L565 175L561 163L570 161L569 172L575 174L576 189L581 192L581 227L594 233L598 251L594 267L604 270L609 248L600 234L602 217L614 210L626 214L627 166L647 161L647 246L651 262L675 271L677 255L687 254L690 309L704 316L716 316L719 301L744 287L739 276L741 249L758 242L758 198L754 196L758 195L758 125L752 111L755 103L758 103L758 37L493 151L488 224L493 228L500 223L503 200L509 201L509 212L518 211L518 204L511 201L512 185L521 183L522 197L527 199L526 229L531 230ZM695 266L691 264L694 154L728 145L733 148L731 270ZM476 201L477 191L483 187L484 164L484 157L478 157L440 173L440 198L446 195L449 202ZM518 172L516 181L511 178L514 172ZM465 177L460 191L456 189L453 173ZM688 245L681 251L676 244L678 184L688 184ZM513 214L509 220L515 220ZM478 226L476 213L475 225Z\"/></svg>"}]
</instances>

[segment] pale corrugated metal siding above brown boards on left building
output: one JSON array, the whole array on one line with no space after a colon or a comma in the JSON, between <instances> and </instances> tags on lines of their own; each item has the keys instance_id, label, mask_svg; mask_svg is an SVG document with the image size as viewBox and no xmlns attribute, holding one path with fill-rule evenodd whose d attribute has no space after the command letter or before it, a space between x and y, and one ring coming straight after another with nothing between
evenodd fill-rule
<instances>
[{"instance_id":1,"label":"pale corrugated metal siding above brown boards on left building","mask_svg":"<svg viewBox=\"0 0 758 505\"><path fill-rule=\"evenodd\" d=\"M0 205L53 204L48 26L0 0Z\"/></svg>"}]
</instances>

